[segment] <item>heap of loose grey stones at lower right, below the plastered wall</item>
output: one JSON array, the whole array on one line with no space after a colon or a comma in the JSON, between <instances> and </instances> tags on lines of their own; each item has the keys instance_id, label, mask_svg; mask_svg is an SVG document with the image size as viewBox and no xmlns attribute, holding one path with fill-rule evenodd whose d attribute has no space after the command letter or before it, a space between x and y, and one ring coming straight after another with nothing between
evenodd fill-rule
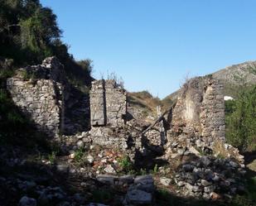
<instances>
[{"instance_id":1,"label":"heap of loose grey stones at lower right, below the plastered wall","mask_svg":"<svg viewBox=\"0 0 256 206\"><path fill-rule=\"evenodd\" d=\"M244 192L244 165L229 158L202 156L180 165L175 178L183 194L204 199L231 198Z\"/></svg>"}]
</instances>

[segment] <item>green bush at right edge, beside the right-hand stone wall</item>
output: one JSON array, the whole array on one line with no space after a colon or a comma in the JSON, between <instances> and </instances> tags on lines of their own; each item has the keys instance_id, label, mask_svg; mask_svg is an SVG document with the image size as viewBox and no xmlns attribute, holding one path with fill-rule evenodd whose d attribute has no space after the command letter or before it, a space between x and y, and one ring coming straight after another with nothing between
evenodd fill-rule
<instances>
[{"instance_id":1,"label":"green bush at right edge, beside the right-hand stone wall","mask_svg":"<svg viewBox=\"0 0 256 206\"><path fill-rule=\"evenodd\" d=\"M226 103L226 138L241 151L252 151L256 143L256 86L243 89Z\"/></svg>"}]
</instances>

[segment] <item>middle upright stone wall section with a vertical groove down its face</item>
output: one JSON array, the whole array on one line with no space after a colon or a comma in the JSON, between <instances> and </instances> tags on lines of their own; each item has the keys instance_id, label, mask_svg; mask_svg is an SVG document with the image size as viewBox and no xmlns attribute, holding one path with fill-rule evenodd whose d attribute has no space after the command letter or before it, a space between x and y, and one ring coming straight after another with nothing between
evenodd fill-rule
<instances>
[{"instance_id":1,"label":"middle upright stone wall section with a vertical groove down its face","mask_svg":"<svg viewBox=\"0 0 256 206\"><path fill-rule=\"evenodd\" d=\"M123 125L127 93L113 79L96 80L90 91L91 126Z\"/></svg>"}]
</instances>

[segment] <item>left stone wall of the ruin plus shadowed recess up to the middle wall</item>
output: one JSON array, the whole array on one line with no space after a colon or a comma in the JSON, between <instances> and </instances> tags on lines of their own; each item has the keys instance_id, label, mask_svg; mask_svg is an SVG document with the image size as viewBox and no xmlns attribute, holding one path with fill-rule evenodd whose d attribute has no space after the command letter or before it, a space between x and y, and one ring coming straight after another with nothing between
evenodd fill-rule
<instances>
[{"instance_id":1,"label":"left stone wall of the ruin plus shadowed recess up to the middle wall","mask_svg":"<svg viewBox=\"0 0 256 206\"><path fill-rule=\"evenodd\" d=\"M56 57L17 70L7 79L13 102L49 137L88 130L89 95L72 87Z\"/></svg>"}]
</instances>

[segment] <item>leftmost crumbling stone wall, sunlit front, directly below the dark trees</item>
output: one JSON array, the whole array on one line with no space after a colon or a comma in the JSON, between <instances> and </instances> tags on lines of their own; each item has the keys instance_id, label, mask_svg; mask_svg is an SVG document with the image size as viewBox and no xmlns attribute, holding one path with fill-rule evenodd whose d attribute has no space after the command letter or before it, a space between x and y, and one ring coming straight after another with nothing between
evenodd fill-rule
<instances>
[{"instance_id":1,"label":"leftmost crumbling stone wall, sunlit front, directly below the dark trees","mask_svg":"<svg viewBox=\"0 0 256 206\"><path fill-rule=\"evenodd\" d=\"M41 65L19 69L7 79L12 100L36 127L53 137L60 133L64 119L64 70L55 57Z\"/></svg>"}]
</instances>

